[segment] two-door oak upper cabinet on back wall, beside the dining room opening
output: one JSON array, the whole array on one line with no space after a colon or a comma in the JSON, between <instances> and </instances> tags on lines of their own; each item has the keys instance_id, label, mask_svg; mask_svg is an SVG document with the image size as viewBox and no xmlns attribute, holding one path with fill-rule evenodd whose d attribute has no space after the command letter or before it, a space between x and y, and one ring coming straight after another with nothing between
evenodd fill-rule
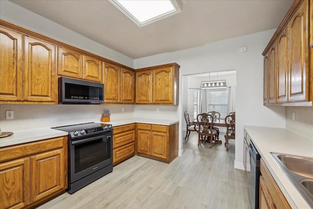
<instances>
[{"instance_id":1,"label":"two-door oak upper cabinet on back wall, beside the dining room opening","mask_svg":"<svg viewBox=\"0 0 313 209\"><path fill-rule=\"evenodd\" d=\"M179 68L172 63L136 70L136 103L178 105Z\"/></svg>"}]
</instances>

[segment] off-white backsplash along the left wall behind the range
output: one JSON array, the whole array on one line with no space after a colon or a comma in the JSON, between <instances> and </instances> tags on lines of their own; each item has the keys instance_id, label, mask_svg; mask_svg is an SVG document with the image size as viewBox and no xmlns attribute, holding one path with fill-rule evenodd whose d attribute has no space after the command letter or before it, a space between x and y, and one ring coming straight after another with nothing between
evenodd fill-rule
<instances>
[{"instance_id":1,"label":"off-white backsplash along the left wall behind the range","mask_svg":"<svg viewBox=\"0 0 313 209\"><path fill-rule=\"evenodd\" d=\"M103 109L110 109L111 121L134 116L134 105L31 105L1 104L2 132L100 122ZM122 112L124 108L124 112ZM13 110L14 119L5 119L5 111ZM108 122L110 123L110 122Z\"/></svg>"}]
</instances>

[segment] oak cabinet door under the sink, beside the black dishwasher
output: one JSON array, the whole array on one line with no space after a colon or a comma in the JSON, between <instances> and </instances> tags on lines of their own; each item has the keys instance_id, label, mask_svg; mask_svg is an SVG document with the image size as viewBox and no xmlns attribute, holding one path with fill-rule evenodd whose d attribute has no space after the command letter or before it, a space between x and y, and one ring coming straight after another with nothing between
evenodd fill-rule
<instances>
[{"instance_id":1,"label":"oak cabinet door under the sink, beside the black dishwasher","mask_svg":"<svg viewBox=\"0 0 313 209\"><path fill-rule=\"evenodd\" d=\"M260 209L276 209L273 199L268 191L268 187L263 179L263 176L260 176L260 200L259 208Z\"/></svg>"}]
</instances>

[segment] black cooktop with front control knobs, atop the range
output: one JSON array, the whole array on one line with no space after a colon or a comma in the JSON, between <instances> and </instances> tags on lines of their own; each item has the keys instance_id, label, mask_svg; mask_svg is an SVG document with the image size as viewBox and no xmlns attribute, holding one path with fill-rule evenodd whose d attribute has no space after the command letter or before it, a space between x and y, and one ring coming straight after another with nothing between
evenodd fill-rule
<instances>
[{"instance_id":1,"label":"black cooktop with front control knobs, atop the range","mask_svg":"<svg viewBox=\"0 0 313 209\"><path fill-rule=\"evenodd\" d=\"M105 123L81 123L74 125L66 125L66 126L57 126L52 127L53 129L57 129L60 131L67 131L70 138L77 138L83 136L93 135L95 133L105 133L113 130L111 124Z\"/></svg>"}]
</instances>

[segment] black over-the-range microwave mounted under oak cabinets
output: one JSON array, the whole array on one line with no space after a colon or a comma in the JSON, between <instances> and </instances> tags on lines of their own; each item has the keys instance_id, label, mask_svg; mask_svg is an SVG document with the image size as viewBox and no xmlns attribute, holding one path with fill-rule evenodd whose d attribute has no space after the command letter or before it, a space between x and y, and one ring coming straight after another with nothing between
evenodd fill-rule
<instances>
[{"instance_id":1,"label":"black over-the-range microwave mounted under oak cabinets","mask_svg":"<svg viewBox=\"0 0 313 209\"><path fill-rule=\"evenodd\" d=\"M104 103L104 85L73 78L59 78L59 104Z\"/></svg>"}]
</instances>

